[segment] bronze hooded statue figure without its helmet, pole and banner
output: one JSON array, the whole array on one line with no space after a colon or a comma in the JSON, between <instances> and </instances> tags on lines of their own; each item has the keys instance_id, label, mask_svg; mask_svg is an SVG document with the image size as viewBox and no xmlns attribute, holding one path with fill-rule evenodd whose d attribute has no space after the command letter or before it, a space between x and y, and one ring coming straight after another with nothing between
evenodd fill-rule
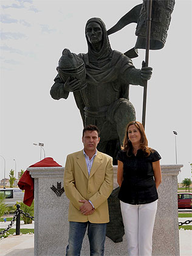
<instances>
[{"instance_id":1,"label":"bronze hooded statue figure without its helmet, pole and banner","mask_svg":"<svg viewBox=\"0 0 192 256\"><path fill-rule=\"evenodd\" d=\"M144 86L151 78L152 68L136 69L122 52L111 49L105 24L100 18L87 21L85 35L87 54L78 54L86 68L86 87L78 79L55 77L50 95L67 99L74 93L83 125L95 124L100 129L98 151L111 155L114 164L123 143L126 126L135 120L134 106L129 102L129 84Z\"/></svg>"}]
</instances>

